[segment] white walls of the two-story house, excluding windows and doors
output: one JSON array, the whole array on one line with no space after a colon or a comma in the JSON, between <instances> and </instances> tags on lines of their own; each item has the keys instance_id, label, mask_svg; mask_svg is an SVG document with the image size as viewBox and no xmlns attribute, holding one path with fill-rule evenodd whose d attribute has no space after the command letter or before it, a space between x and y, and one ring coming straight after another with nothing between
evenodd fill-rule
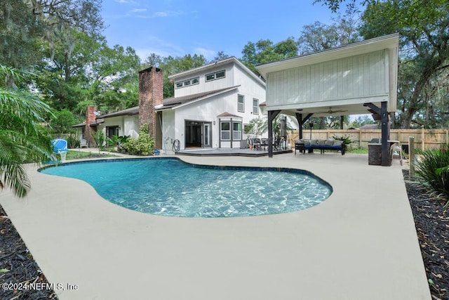
<instances>
[{"instance_id":1,"label":"white walls of the two-story house, excluding windows and doors","mask_svg":"<svg viewBox=\"0 0 449 300\"><path fill-rule=\"evenodd\" d=\"M206 74L225 70L225 78L215 79L206 82ZM231 148L230 141L222 141L220 144L220 117L222 113L235 115L233 121L242 123L242 139L246 139L243 128L251 119L263 117L259 107L259 114L253 115L253 99L259 100L259 104L265 101L265 86L262 81L257 80L249 70L231 61L227 65L217 65L215 68L199 71L196 74L187 74L178 77L178 81L184 81L199 77L199 84L185 86L175 89L175 97L187 96L205 91L215 91L218 89L238 86L235 90L220 95L212 96L185 105L175 107L174 110L163 111L163 138L170 138L165 142L167 152L171 152L173 139L180 141L180 150L185 150L185 121L210 122L212 130L212 148ZM244 96L244 112L237 111L238 95ZM231 117L222 117L229 120ZM213 124L215 122L215 124ZM239 148L240 141L233 141L232 148Z\"/></svg>"}]
</instances>

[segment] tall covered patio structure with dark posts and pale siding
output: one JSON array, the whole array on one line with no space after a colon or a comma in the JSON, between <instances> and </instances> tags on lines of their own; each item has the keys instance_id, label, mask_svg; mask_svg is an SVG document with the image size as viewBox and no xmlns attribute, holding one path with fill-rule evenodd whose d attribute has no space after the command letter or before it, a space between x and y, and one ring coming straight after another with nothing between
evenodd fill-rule
<instances>
[{"instance_id":1,"label":"tall covered patio structure with dark posts and pale siding","mask_svg":"<svg viewBox=\"0 0 449 300\"><path fill-rule=\"evenodd\" d=\"M373 114L389 166L389 113L396 111L398 34L257 66L267 83L268 138L282 113L302 126L310 117ZM269 143L269 157L273 156Z\"/></svg>"}]
</instances>

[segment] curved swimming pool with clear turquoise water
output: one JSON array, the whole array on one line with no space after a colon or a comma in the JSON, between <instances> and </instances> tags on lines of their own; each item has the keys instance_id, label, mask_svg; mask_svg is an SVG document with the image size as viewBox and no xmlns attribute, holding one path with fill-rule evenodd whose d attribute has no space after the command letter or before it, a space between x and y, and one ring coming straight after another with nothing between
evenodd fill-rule
<instances>
[{"instance_id":1,"label":"curved swimming pool with clear turquoise water","mask_svg":"<svg viewBox=\"0 0 449 300\"><path fill-rule=\"evenodd\" d=\"M303 170L204 166L177 157L72 162L39 171L79 178L109 202L163 216L281 214L313 207L332 193Z\"/></svg>"}]
</instances>

